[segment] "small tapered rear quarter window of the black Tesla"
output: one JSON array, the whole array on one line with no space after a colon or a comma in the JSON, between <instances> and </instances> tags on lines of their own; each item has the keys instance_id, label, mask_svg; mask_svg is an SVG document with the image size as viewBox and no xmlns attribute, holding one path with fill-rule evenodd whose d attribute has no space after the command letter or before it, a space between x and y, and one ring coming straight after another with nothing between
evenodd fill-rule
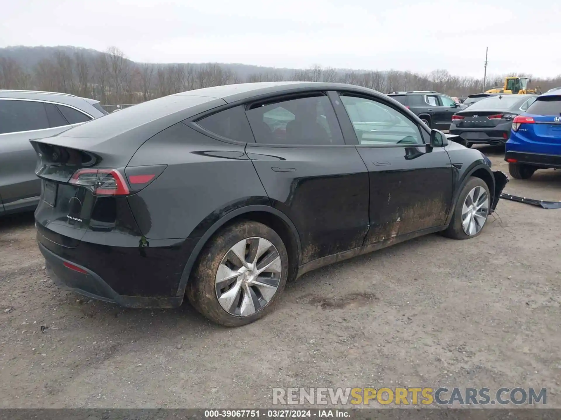
<instances>
[{"instance_id":1,"label":"small tapered rear quarter window of the black Tesla","mask_svg":"<svg viewBox=\"0 0 561 420\"><path fill-rule=\"evenodd\" d=\"M226 109L219 113L209 115L197 121L201 127L218 136L237 140L238 142L253 142L253 134L245 110L242 106Z\"/></svg>"}]
</instances>

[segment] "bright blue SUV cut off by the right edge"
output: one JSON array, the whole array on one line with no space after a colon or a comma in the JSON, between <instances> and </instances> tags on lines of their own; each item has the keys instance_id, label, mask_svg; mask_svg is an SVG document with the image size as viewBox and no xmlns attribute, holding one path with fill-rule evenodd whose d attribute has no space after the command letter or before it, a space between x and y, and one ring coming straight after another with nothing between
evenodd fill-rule
<instances>
[{"instance_id":1,"label":"bright blue SUV cut off by the right edge","mask_svg":"<svg viewBox=\"0 0 561 420\"><path fill-rule=\"evenodd\" d=\"M561 90L537 97L514 118L504 160L516 179L528 179L536 169L561 168Z\"/></svg>"}]
</instances>

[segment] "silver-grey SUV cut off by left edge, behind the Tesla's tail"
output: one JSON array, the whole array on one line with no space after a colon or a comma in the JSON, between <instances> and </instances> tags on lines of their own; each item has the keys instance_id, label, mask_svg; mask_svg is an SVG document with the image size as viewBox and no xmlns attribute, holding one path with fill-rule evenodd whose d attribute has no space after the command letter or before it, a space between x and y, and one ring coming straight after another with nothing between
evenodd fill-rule
<instances>
[{"instance_id":1,"label":"silver-grey SUV cut off by left edge, behind the Tesla's tail","mask_svg":"<svg viewBox=\"0 0 561 420\"><path fill-rule=\"evenodd\" d=\"M53 92L0 90L0 215L39 203L37 155L29 143L107 114L99 101Z\"/></svg>"}]
</instances>

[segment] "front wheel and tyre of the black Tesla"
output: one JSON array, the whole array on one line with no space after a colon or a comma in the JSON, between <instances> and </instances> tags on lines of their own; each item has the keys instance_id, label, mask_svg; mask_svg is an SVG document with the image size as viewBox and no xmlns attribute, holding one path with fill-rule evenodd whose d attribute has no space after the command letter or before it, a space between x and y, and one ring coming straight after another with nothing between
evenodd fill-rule
<instances>
[{"instance_id":1,"label":"front wheel and tyre of the black Tesla","mask_svg":"<svg viewBox=\"0 0 561 420\"><path fill-rule=\"evenodd\" d=\"M452 214L450 225L443 232L452 239L470 239L481 234L489 216L491 195L481 178L472 176L463 186Z\"/></svg>"}]
</instances>

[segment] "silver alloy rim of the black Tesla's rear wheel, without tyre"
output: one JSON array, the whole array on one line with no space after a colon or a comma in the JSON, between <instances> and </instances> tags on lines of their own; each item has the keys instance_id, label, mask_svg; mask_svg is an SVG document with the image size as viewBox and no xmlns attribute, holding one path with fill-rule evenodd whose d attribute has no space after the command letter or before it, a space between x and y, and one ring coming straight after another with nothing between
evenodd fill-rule
<instances>
[{"instance_id":1,"label":"silver alloy rim of the black Tesla's rear wheel, without tyre","mask_svg":"<svg viewBox=\"0 0 561 420\"><path fill-rule=\"evenodd\" d=\"M277 293L282 262L277 248L262 237L237 242L218 266L215 288L222 309L249 316L263 309Z\"/></svg>"}]
</instances>

